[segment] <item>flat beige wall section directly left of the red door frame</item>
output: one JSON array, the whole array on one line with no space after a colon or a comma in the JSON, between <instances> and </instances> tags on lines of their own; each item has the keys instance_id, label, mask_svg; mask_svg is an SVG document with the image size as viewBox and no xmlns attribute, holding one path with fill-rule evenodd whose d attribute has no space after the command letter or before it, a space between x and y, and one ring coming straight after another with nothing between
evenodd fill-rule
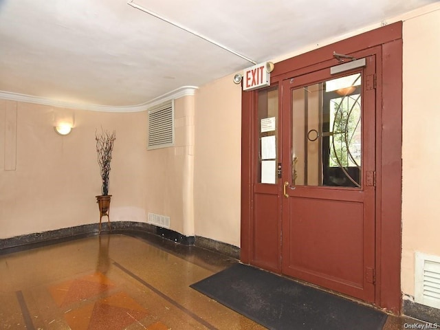
<instances>
[{"instance_id":1,"label":"flat beige wall section directly left of the red door frame","mask_svg":"<svg viewBox=\"0 0 440 330\"><path fill-rule=\"evenodd\" d=\"M240 246L241 87L201 87L195 104L195 233Z\"/></svg>"}]
</instances>

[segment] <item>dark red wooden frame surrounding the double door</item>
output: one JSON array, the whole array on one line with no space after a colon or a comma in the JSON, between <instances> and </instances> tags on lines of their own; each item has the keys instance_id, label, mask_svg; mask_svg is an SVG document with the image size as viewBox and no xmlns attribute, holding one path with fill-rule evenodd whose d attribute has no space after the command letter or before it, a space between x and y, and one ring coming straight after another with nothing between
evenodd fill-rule
<instances>
[{"instance_id":1,"label":"dark red wooden frame surrounding the double door","mask_svg":"<svg viewBox=\"0 0 440 330\"><path fill-rule=\"evenodd\" d=\"M400 314L401 311L401 135L402 135L402 23L353 36L294 58L276 63L273 81L289 72L312 72L331 61L333 52L351 54L371 47L382 48L382 67L377 68L376 128L376 294L375 305ZM335 64L338 62L334 60ZM254 114L256 91L242 92L241 121L241 261L252 258L252 209L254 185Z\"/></svg>"}]
</instances>

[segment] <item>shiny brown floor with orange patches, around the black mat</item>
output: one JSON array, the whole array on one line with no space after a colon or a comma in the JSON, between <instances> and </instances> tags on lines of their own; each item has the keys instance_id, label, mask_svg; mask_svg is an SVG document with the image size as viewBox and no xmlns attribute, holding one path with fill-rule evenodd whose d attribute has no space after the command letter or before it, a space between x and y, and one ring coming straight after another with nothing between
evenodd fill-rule
<instances>
[{"instance_id":1,"label":"shiny brown floor with orange patches, around the black mat","mask_svg":"<svg viewBox=\"0 0 440 330\"><path fill-rule=\"evenodd\" d=\"M189 287L236 262L124 234L3 254L0 329L265 329ZM384 330L408 325L423 323L389 316Z\"/></svg>"}]
</instances>

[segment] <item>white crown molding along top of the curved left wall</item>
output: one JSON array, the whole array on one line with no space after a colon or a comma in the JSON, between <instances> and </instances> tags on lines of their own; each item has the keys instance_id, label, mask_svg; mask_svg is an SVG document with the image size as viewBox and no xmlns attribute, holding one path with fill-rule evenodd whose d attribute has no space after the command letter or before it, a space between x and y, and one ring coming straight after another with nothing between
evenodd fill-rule
<instances>
[{"instance_id":1,"label":"white crown molding along top of the curved left wall","mask_svg":"<svg viewBox=\"0 0 440 330\"><path fill-rule=\"evenodd\" d=\"M0 91L0 98L5 100L17 101L17 102L28 102L34 104L48 105L50 107L62 107L69 109L78 110L89 110L89 111L102 111L102 112L141 112L154 107L157 104L161 104L168 100L175 100L177 98L182 98L184 96L193 96L195 91L199 89L197 86L182 86L173 91L169 91L162 96L153 98L148 102L135 105L125 105L125 106L109 106L100 104L83 104L83 103L73 103L65 102L61 100L53 100L51 98L41 98L39 96L30 96L25 94L11 93L9 91Z\"/></svg>"}]
</instances>

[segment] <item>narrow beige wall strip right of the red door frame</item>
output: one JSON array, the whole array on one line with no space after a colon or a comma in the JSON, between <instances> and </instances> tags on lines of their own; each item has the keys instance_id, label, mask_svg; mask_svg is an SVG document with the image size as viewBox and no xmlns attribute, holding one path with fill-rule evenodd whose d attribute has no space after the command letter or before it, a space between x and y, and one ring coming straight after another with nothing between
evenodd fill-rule
<instances>
[{"instance_id":1,"label":"narrow beige wall strip right of the red door frame","mask_svg":"<svg viewBox=\"0 0 440 330\"><path fill-rule=\"evenodd\" d=\"M440 6L404 21L401 288L414 296L415 252L440 256Z\"/></svg>"}]
</instances>

